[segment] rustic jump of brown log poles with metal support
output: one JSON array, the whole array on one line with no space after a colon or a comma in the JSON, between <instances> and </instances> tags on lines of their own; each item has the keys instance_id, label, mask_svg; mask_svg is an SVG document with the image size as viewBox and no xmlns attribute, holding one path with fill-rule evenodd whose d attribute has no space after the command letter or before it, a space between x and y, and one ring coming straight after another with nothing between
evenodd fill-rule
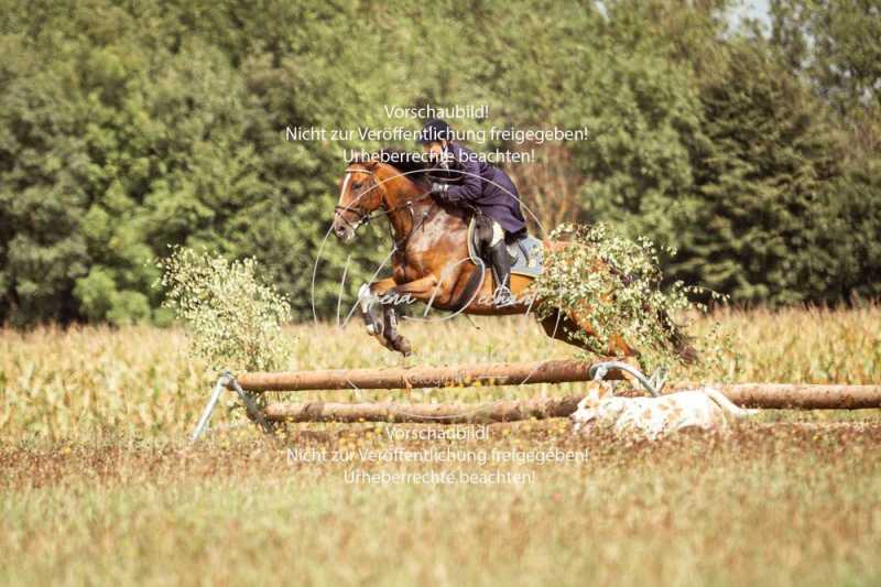
<instances>
[{"instance_id":1,"label":"rustic jump of brown log poles with metal support","mask_svg":"<svg viewBox=\"0 0 881 587\"><path fill-rule=\"evenodd\" d=\"M621 379L612 362L606 379ZM620 363L618 363L620 366ZM591 366L576 360L465 365L458 367L390 367L383 369L333 369L274 373L225 373L193 434L195 441L207 427L221 390L233 389L247 401L263 391L417 389L444 387L522 385L530 383L585 382L594 379ZM627 368L620 366L619 368ZM640 374L640 377L643 377ZM881 407L881 384L840 385L803 383L670 383L664 393L713 387L736 404L748 407L802 410L858 410ZM274 403L254 417L267 422L513 422L565 417L576 410L581 394L532 400L502 400L489 404L338 403L313 401ZM249 410L249 414L255 409ZM265 418L265 420L263 420Z\"/></svg>"}]
</instances>

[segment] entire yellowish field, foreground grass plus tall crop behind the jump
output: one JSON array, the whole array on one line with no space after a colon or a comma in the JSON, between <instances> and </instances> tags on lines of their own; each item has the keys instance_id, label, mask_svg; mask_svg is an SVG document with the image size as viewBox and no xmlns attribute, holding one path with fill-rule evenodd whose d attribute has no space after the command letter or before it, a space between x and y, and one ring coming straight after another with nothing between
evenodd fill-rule
<instances>
[{"instance_id":1,"label":"entire yellowish field, foreground grass plus tall crop behind the jump","mask_svg":"<svg viewBox=\"0 0 881 587\"><path fill-rule=\"evenodd\" d=\"M738 355L674 379L881 382L881 307L722 312L697 331L714 320ZM520 318L476 325L405 325L417 351L406 363L570 355ZM360 323L289 333L292 369L401 362ZM0 331L0 583L881 581L877 411L769 412L727 437L653 445L574 437L551 421L476 439L392 438L437 430L420 426L304 425L275 437L242 426L189 447L211 377L185 349L182 331L149 327ZM242 421L224 410L215 423ZM315 454L350 460L304 460ZM403 454L431 458L367 459ZM561 455L573 461L536 461Z\"/></svg>"}]
</instances>

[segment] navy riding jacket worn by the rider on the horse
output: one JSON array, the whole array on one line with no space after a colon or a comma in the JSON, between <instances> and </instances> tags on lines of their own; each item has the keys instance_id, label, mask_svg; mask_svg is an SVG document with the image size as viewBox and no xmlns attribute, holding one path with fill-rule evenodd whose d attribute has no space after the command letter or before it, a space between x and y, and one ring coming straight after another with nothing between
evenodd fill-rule
<instances>
[{"instance_id":1,"label":"navy riding jacket worn by the rider on the horse","mask_svg":"<svg viewBox=\"0 0 881 587\"><path fill-rule=\"evenodd\" d=\"M461 173L461 180L450 185L442 196L450 204L467 203L498 221L505 232L518 232L526 228L520 210L520 196L514 183L499 167L486 161L478 161L474 151L465 146L447 143L453 155L452 167Z\"/></svg>"}]
</instances>

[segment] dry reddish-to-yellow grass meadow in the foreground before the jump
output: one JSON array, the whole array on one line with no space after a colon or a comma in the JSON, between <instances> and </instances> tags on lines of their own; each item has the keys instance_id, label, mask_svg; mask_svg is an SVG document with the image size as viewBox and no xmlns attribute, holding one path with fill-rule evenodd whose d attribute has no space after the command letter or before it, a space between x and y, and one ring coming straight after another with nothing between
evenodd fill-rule
<instances>
[{"instance_id":1,"label":"dry reddish-to-yellow grass meadow in the foreground before the jump","mask_svg":"<svg viewBox=\"0 0 881 587\"><path fill-rule=\"evenodd\" d=\"M509 431L513 434L508 434ZM881 427L750 424L656 445L497 425L461 450L583 464L290 464L285 447L0 446L0 585L878 585ZM347 472L502 470L520 485L357 483Z\"/></svg>"}]
</instances>

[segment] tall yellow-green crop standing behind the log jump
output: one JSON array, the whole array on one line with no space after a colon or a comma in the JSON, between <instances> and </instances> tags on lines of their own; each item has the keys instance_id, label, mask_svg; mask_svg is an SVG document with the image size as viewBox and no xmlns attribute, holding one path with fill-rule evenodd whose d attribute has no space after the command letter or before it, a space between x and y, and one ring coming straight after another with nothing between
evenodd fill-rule
<instances>
[{"instance_id":1,"label":"tall yellow-green crop standing behind the log jump","mask_svg":"<svg viewBox=\"0 0 881 587\"><path fill-rule=\"evenodd\" d=\"M673 379L781 382L881 382L881 307L855 309L724 309L697 320L695 334L718 320L735 354L711 372L678 368ZM548 339L529 317L407 322L415 355L389 352L358 322L285 329L286 369L460 365L563 358L570 347ZM177 436L195 422L213 381L187 356L180 329L43 327L0 330L0 438L59 438L95 434ZM563 393L566 385L446 389L371 394L420 401L476 401ZM302 394L350 400L352 392ZM230 403L228 407L231 407ZM238 412L218 422L240 421Z\"/></svg>"}]
</instances>

